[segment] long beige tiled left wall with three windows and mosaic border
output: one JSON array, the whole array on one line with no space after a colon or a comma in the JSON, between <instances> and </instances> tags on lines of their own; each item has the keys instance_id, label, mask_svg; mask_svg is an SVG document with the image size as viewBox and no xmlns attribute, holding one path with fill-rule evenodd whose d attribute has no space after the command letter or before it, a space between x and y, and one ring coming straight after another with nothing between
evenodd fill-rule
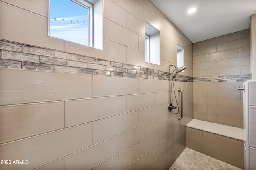
<instances>
[{"instance_id":1,"label":"long beige tiled left wall with three windows and mosaic border","mask_svg":"<svg viewBox=\"0 0 256 170\"><path fill-rule=\"evenodd\" d=\"M0 0L0 160L29 161L0 169L168 169L193 117L192 43L149 0L104 0L103 51L48 37L47 6ZM144 62L145 21L160 66ZM167 109L177 43L180 121Z\"/></svg>"}]
</instances>

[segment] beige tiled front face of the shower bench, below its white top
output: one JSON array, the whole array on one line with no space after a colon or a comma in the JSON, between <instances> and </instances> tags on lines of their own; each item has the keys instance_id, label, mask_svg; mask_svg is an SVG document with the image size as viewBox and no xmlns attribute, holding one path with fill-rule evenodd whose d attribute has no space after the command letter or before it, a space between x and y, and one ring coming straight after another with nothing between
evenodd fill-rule
<instances>
[{"instance_id":1,"label":"beige tiled front face of the shower bench, below its white top","mask_svg":"<svg viewBox=\"0 0 256 170\"><path fill-rule=\"evenodd\" d=\"M187 127L187 147L243 168L243 141Z\"/></svg>"}]
</instances>

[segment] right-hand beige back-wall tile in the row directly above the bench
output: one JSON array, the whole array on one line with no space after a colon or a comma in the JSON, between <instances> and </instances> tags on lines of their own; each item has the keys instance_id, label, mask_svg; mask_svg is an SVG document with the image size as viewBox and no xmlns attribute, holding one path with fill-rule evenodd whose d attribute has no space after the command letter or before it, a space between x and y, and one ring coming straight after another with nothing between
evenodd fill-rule
<instances>
[{"instance_id":1,"label":"right-hand beige back-wall tile in the row directly above the bench","mask_svg":"<svg viewBox=\"0 0 256 170\"><path fill-rule=\"evenodd\" d=\"M243 118L218 115L218 123L243 128Z\"/></svg>"}]
</instances>

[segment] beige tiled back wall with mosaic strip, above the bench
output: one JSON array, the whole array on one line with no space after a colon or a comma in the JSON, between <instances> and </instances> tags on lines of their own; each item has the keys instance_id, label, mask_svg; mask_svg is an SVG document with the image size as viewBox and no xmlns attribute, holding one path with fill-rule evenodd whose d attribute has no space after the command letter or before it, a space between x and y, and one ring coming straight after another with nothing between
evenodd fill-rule
<instances>
[{"instance_id":1,"label":"beige tiled back wall with mosaic strip, above the bench","mask_svg":"<svg viewBox=\"0 0 256 170\"><path fill-rule=\"evenodd\" d=\"M242 87L251 80L249 30L193 45L194 118L243 127Z\"/></svg>"}]
</instances>

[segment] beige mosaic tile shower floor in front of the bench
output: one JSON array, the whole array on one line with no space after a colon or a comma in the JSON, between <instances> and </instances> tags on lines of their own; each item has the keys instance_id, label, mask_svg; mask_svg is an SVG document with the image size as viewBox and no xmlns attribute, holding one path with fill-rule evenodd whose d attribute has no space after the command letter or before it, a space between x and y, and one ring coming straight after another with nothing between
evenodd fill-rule
<instances>
[{"instance_id":1,"label":"beige mosaic tile shower floor in front of the bench","mask_svg":"<svg viewBox=\"0 0 256 170\"><path fill-rule=\"evenodd\" d=\"M210 156L186 148L169 170L242 170Z\"/></svg>"}]
</instances>

